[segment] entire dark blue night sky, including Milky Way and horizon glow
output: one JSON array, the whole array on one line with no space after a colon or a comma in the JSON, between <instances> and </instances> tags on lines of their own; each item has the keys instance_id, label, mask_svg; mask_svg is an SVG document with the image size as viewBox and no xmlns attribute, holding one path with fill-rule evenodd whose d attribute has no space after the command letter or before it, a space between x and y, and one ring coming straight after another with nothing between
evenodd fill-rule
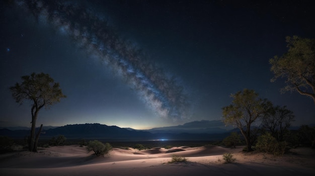
<instances>
[{"instance_id":1,"label":"entire dark blue night sky, including Milky Way and horizon glow","mask_svg":"<svg viewBox=\"0 0 315 176\"><path fill-rule=\"evenodd\" d=\"M315 123L311 98L280 94L269 59L285 37L315 37L312 1L5 1L0 14L0 126L31 126L9 90L48 73L67 96L37 125L148 129L219 120L231 93L254 89Z\"/></svg>"}]
</instances>

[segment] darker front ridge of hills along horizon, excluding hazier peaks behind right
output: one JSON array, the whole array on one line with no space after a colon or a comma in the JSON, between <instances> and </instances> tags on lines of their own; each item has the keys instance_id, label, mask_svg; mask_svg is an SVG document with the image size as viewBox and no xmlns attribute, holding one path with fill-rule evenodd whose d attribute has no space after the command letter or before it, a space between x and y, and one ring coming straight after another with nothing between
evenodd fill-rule
<instances>
[{"instance_id":1,"label":"darker front ridge of hills along horizon, excluding hazier peaks behind right","mask_svg":"<svg viewBox=\"0 0 315 176\"><path fill-rule=\"evenodd\" d=\"M30 130L9 130L0 129L0 135L14 138L28 136ZM40 138L51 138L57 135L64 135L66 138L85 138L103 140L220 140L229 135L229 132L220 134L209 133L151 133L142 130L128 130L118 126L107 126L99 123L86 123L65 125L53 129L43 130Z\"/></svg>"}]
</instances>

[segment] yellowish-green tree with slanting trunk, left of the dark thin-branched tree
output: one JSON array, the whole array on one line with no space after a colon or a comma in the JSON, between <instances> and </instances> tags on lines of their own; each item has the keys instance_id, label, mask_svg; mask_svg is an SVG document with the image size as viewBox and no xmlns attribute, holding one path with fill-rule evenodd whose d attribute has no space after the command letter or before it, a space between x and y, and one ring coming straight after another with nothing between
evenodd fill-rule
<instances>
[{"instance_id":1,"label":"yellowish-green tree with slanting trunk, left of the dark thin-branched tree","mask_svg":"<svg viewBox=\"0 0 315 176\"><path fill-rule=\"evenodd\" d=\"M245 138L248 151L252 151L254 141L251 125L270 111L272 103L259 98L258 93L249 89L231 94L231 97L232 104L222 108L223 122L238 127Z\"/></svg>"}]
</instances>

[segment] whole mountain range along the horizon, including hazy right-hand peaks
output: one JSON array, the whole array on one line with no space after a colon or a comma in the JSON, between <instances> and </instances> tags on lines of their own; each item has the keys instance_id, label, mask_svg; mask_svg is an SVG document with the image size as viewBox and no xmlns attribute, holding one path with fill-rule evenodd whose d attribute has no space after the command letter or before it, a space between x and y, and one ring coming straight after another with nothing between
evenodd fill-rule
<instances>
[{"instance_id":1,"label":"whole mountain range along the horizon, including hazy right-hand peaks","mask_svg":"<svg viewBox=\"0 0 315 176\"><path fill-rule=\"evenodd\" d=\"M28 136L30 129L11 130L0 129L0 135L14 138ZM66 138L95 138L106 140L221 140L230 131L224 129L221 121L202 120L185 123L178 126L136 130L120 128L99 123L73 124L42 130L40 138L51 138L64 135Z\"/></svg>"}]
</instances>

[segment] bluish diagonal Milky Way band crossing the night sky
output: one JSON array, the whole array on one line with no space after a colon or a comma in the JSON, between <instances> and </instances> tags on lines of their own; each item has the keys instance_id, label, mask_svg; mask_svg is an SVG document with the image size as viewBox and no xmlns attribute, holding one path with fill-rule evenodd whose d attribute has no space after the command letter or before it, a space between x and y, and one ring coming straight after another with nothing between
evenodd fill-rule
<instances>
[{"instance_id":1,"label":"bluish diagonal Milky Way band crossing the night sky","mask_svg":"<svg viewBox=\"0 0 315 176\"><path fill-rule=\"evenodd\" d=\"M184 87L150 62L135 44L121 39L97 13L59 1L16 1L15 4L32 13L38 23L51 24L55 30L71 37L78 47L102 59L157 115L172 121L189 118Z\"/></svg>"}]
</instances>

